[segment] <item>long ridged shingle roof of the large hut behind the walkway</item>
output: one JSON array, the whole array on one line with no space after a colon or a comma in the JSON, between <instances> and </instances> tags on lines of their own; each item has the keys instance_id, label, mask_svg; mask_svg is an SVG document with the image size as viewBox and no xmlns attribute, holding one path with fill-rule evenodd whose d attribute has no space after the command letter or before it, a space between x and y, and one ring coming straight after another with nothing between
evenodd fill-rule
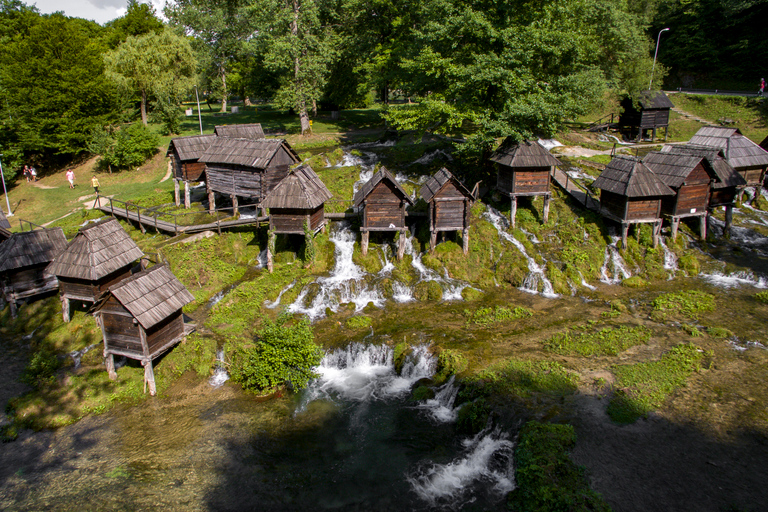
<instances>
[{"instance_id":1,"label":"long ridged shingle roof of the large hut behind the walkway","mask_svg":"<svg viewBox=\"0 0 768 512\"><path fill-rule=\"evenodd\" d=\"M250 140L222 137L217 138L198 161L206 164L231 164L266 169L280 148L285 148L295 162L301 161L299 155L282 139Z\"/></svg>"}]
</instances>

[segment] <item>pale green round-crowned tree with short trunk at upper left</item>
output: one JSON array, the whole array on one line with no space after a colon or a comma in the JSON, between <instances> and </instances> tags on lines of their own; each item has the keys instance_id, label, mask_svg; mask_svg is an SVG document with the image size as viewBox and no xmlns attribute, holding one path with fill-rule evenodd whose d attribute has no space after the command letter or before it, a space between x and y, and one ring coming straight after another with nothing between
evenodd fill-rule
<instances>
[{"instance_id":1,"label":"pale green round-crowned tree with short trunk at upper left","mask_svg":"<svg viewBox=\"0 0 768 512\"><path fill-rule=\"evenodd\" d=\"M147 99L177 99L193 86L195 58L189 41L166 28L130 36L104 56L107 76L141 95L141 122L147 125Z\"/></svg>"}]
</instances>

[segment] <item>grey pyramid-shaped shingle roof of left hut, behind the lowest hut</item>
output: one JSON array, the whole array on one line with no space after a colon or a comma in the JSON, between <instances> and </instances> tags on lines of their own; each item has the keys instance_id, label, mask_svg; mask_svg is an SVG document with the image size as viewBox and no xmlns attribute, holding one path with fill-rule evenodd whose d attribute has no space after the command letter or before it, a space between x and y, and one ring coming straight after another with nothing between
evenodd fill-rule
<instances>
[{"instance_id":1,"label":"grey pyramid-shaped shingle roof of left hut, behind the lowest hut","mask_svg":"<svg viewBox=\"0 0 768 512\"><path fill-rule=\"evenodd\" d=\"M57 277L98 281L143 255L117 219L108 217L80 228L46 270Z\"/></svg>"}]
</instances>

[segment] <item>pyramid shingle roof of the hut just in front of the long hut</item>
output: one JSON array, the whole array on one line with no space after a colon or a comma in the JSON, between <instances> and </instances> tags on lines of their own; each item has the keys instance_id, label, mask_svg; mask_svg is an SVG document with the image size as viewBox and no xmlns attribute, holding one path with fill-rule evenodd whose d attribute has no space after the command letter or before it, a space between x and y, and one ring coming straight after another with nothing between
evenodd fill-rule
<instances>
[{"instance_id":1,"label":"pyramid shingle roof of the hut just in front of the long hut","mask_svg":"<svg viewBox=\"0 0 768 512\"><path fill-rule=\"evenodd\" d=\"M288 173L264 198L265 208L313 209L332 198L325 184L309 165L300 165Z\"/></svg>"}]
</instances>

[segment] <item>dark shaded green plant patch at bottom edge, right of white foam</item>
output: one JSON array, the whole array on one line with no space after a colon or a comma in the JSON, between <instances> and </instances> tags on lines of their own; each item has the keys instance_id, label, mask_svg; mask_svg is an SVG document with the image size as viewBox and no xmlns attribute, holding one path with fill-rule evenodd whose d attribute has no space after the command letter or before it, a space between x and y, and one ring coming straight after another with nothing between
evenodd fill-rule
<instances>
[{"instance_id":1,"label":"dark shaded green plant patch at bottom edge, right of white foam","mask_svg":"<svg viewBox=\"0 0 768 512\"><path fill-rule=\"evenodd\" d=\"M525 512L609 511L590 489L585 470L570 459L576 433L570 425L529 421L515 447L517 488L507 496L509 510Z\"/></svg>"}]
</instances>

